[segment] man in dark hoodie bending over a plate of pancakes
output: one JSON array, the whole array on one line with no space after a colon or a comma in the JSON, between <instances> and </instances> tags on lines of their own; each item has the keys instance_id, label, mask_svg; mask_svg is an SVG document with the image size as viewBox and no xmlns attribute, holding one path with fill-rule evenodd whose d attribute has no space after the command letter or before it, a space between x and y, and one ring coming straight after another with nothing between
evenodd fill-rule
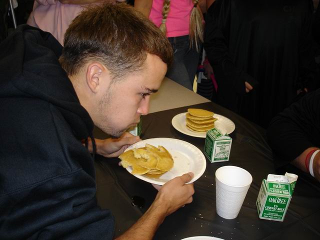
<instances>
[{"instance_id":1,"label":"man in dark hoodie bending over a plate of pancakes","mask_svg":"<svg viewBox=\"0 0 320 240\"><path fill-rule=\"evenodd\" d=\"M96 203L94 154L117 156L139 140L123 132L147 114L170 49L142 14L107 3L73 20L63 49L28 25L1 42L0 239L113 237L113 217ZM118 138L95 141L93 123ZM191 178L164 184L118 239L151 239L165 216L192 201Z\"/></svg>"}]
</instances>

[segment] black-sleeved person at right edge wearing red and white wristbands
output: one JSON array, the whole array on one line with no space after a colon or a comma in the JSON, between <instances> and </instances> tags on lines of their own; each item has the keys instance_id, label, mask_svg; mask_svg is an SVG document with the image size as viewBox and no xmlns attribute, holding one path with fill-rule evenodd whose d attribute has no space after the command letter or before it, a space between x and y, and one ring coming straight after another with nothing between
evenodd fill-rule
<instances>
[{"instance_id":1,"label":"black-sleeved person at right edge wearing red and white wristbands","mask_svg":"<svg viewBox=\"0 0 320 240\"><path fill-rule=\"evenodd\" d=\"M275 166L292 163L320 181L320 88L275 116L268 129Z\"/></svg>"}]
</instances>

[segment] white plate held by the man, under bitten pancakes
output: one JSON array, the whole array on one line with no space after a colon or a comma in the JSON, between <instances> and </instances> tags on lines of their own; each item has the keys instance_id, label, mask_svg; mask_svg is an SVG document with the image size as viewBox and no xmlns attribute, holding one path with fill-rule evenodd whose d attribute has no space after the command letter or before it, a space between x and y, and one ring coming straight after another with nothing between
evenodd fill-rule
<instances>
[{"instance_id":1,"label":"white plate held by the man, under bitten pancakes","mask_svg":"<svg viewBox=\"0 0 320 240\"><path fill-rule=\"evenodd\" d=\"M174 165L171 170L165 172L159 178L150 178L144 175L133 174L141 180L158 185L163 185L168 180L191 171L193 172L194 176L192 180L188 182L190 183L198 179L205 170L206 160L200 149L189 142L179 139L166 137L149 138L132 144L125 151L130 150L134 147L144 147L145 143L154 146L164 146L172 155ZM127 167L126 169L131 173L131 167Z\"/></svg>"}]
</instances>

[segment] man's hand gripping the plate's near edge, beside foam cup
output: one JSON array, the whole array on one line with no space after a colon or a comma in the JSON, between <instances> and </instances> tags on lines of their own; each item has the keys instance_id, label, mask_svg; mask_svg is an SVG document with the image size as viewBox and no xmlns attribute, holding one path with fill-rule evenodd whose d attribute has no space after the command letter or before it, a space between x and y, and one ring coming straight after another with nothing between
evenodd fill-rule
<instances>
[{"instance_id":1,"label":"man's hand gripping the plate's near edge, beside foam cup","mask_svg":"<svg viewBox=\"0 0 320 240\"><path fill-rule=\"evenodd\" d=\"M193 183L185 183L189 182L192 177L193 173L189 172L166 182L160 187L153 204L159 204L158 207L161 207L167 216L181 206L190 203L194 193Z\"/></svg>"}]
</instances>

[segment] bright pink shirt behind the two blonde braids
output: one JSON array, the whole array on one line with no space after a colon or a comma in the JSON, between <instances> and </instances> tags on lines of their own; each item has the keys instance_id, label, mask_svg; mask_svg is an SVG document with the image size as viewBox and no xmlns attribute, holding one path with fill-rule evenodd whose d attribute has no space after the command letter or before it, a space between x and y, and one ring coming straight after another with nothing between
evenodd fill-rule
<instances>
[{"instance_id":1,"label":"bright pink shirt behind the two blonde braids","mask_svg":"<svg viewBox=\"0 0 320 240\"><path fill-rule=\"evenodd\" d=\"M156 26L162 20L163 0L153 0L149 18ZM166 18L166 36L183 36L189 34L190 13L192 0L170 0L169 13Z\"/></svg>"}]
</instances>

